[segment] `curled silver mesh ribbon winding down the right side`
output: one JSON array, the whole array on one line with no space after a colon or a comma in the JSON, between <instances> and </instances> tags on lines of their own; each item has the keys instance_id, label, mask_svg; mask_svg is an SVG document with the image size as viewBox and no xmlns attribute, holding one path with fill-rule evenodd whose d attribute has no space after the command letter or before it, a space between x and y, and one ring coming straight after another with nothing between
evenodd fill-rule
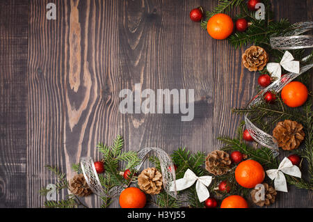
<instances>
[{"instance_id":1,"label":"curled silver mesh ribbon winding down the right side","mask_svg":"<svg viewBox=\"0 0 313 222\"><path fill-rule=\"evenodd\" d=\"M282 37L271 37L271 47L273 49L304 49L313 47L313 35L298 35L300 33L304 33L305 31L309 31L310 29L313 29L313 22L299 22L297 24L294 24L294 30L286 33ZM287 35L294 35L294 36L287 36ZM297 35L297 36L296 36ZM300 36L302 36L300 38ZM305 41L304 41L305 39ZM307 41L307 39L310 39L310 41ZM292 46L291 44L295 44ZM307 60L309 56L306 56L302 59L302 61ZM303 74L307 70L310 70L310 68L313 67L313 63L309 65L305 65L302 68L300 68L300 72L293 73L289 72L288 74L285 74L284 77L274 81L270 86L264 88L264 90L260 91L248 104L247 108L251 108L253 105L258 104L259 102L262 102L264 93L268 91L275 91L276 93L279 93L280 90L289 82L291 82L293 79L298 77L300 74ZM257 143L260 143L266 148L270 148L273 151L273 155L276 157L278 156L278 145L275 142L275 139L273 136L266 134L266 132L263 132L261 129L256 127L248 118L248 113L245 115L245 124L246 129L248 129L249 134L252 136L252 138L257 141Z\"/></svg>"}]
</instances>

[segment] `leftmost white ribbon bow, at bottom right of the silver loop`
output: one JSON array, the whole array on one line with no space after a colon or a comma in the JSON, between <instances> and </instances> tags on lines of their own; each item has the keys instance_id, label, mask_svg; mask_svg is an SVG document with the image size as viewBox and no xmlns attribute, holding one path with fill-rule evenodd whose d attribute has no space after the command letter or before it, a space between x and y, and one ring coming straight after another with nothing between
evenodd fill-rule
<instances>
[{"instance_id":1,"label":"leftmost white ribbon bow, at bottom right of the silver loop","mask_svg":"<svg viewBox=\"0 0 313 222\"><path fill-rule=\"evenodd\" d=\"M207 187L209 187L209 184L211 184L211 176L197 177L195 173L193 173L193 171L188 169L184 174L184 178L176 180L177 191L182 191L183 189L191 187L195 183L195 181L197 181L197 183L195 184L195 190L197 191L199 201L203 202L204 200L207 200L207 198L209 198L210 196ZM174 190L175 187L172 183L170 186L170 191Z\"/></svg>"}]
</instances>

